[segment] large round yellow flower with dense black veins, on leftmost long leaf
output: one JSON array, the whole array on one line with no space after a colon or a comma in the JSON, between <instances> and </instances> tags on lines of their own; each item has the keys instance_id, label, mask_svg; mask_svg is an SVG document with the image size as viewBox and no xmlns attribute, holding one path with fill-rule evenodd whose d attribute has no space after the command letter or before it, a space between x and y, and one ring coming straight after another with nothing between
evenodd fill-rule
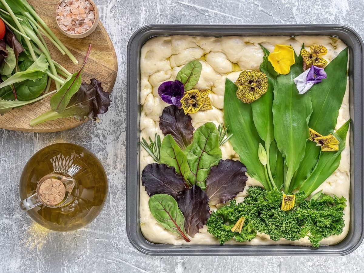
<instances>
[{"instance_id":1,"label":"large round yellow flower with dense black veins, on leftmost long leaf","mask_svg":"<svg viewBox=\"0 0 364 273\"><path fill-rule=\"evenodd\" d=\"M268 90L267 76L258 71L242 71L235 84L238 87L236 95L244 103L252 103Z\"/></svg>"}]
</instances>

